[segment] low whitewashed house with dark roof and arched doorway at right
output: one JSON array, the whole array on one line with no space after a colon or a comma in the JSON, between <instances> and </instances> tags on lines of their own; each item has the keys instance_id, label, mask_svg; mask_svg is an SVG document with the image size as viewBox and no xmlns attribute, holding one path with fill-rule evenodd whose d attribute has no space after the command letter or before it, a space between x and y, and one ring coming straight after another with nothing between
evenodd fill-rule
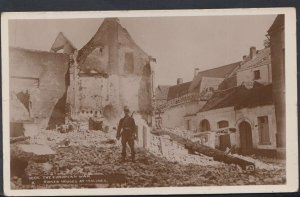
<instances>
[{"instance_id":1,"label":"low whitewashed house with dark roof and arched doorway at right","mask_svg":"<svg viewBox=\"0 0 300 197\"><path fill-rule=\"evenodd\" d=\"M228 135L228 147L241 154L274 153L276 149L276 116L272 85L244 85L216 92L197 113L199 131ZM222 137L216 147L222 146ZM275 153L274 153L275 154Z\"/></svg>"}]
</instances>

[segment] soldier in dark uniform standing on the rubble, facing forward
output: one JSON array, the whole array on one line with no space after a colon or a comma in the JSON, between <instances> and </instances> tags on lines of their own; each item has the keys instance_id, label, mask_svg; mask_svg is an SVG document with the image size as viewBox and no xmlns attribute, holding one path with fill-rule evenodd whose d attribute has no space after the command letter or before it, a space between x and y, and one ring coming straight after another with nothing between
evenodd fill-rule
<instances>
[{"instance_id":1,"label":"soldier in dark uniform standing on the rubble, facing forward","mask_svg":"<svg viewBox=\"0 0 300 197\"><path fill-rule=\"evenodd\" d=\"M127 106L124 107L124 113L125 116L120 119L116 137L118 140L122 137L122 162L126 158L127 143L130 147L132 162L135 162L134 140L136 139L136 125L132 116L129 116L130 110Z\"/></svg>"}]
</instances>

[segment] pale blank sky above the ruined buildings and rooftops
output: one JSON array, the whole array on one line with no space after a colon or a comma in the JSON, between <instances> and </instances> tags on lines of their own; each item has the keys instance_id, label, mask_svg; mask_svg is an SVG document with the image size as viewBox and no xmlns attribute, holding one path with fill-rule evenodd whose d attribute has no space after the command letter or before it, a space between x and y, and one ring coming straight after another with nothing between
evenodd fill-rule
<instances>
[{"instance_id":1,"label":"pale blank sky above the ruined buildings and rooftops","mask_svg":"<svg viewBox=\"0 0 300 197\"><path fill-rule=\"evenodd\" d=\"M135 42L157 59L158 84L193 78L200 70L240 61L251 46L263 48L275 15L120 18ZM14 20L9 43L49 51L57 34L80 49L96 33L103 19Z\"/></svg>"}]
</instances>

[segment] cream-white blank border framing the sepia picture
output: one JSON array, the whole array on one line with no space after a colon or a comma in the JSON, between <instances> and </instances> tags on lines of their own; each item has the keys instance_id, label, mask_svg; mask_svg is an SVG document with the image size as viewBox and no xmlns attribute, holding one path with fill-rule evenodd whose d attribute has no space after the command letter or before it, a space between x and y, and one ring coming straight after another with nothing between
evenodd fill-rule
<instances>
[{"instance_id":1,"label":"cream-white blank border framing the sepia picture","mask_svg":"<svg viewBox=\"0 0 300 197\"><path fill-rule=\"evenodd\" d=\"M158 16L220 16L285 14L285 78L286 78L286 184L247 186L199 186L155 188L97 188L97 189L36 189L10 188L9 146L9 54L8 20L10 19L71 19L105 17L158 17ZM130 194L220 194L271 193L298 190L298 129L297 129L297 62L295 8L244 8L211 10L152 10L152 11L81 11L81 12L11 12L2 13L2 107L3 107L3 176L6 195L130 195Z\"/></svg>"}]
</instances>

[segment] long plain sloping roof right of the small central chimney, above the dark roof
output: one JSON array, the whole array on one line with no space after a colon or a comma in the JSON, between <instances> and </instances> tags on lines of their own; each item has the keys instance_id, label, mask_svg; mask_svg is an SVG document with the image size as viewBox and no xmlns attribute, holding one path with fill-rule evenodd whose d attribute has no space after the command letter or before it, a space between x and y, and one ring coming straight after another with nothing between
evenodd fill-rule
<instances>
[{"instance_id":1,"label":"long plain sloping roof right of the small central chimney, above the dark roof","mask_svg":"<svg viewBox=\"0 0 300 197\"><path fill-rule=\"evenodd\" d=\"M196 77L194 77L191 86L189 87L189 91L194 91L197 87L199 87L201 83L202 77L216 77L216 78L226 78L229 76L238 66L240 65L240 62L235 62L232 64L228 64L225 66L204 70L197 74Z\"/></svg>"}]
</instances>

